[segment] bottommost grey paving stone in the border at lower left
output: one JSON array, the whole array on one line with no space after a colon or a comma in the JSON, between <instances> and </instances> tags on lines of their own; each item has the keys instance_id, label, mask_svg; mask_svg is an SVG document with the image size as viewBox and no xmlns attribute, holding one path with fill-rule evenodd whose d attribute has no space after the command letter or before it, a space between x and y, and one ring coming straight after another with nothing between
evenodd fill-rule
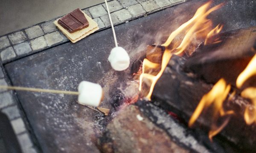
<instances>
[{"instance_id":1,"label":"bottommost grey paving stone in the border at lower left","mask_svg":"<svg viewBox=\"0 0 256 153\"><path fill-rule=\"evenodd\" d=\"M20 142L20 147L23 153L31 153L33 144L31 142L31 139L29 138L28 133L23 133L19 135L18 141Z\"/></svg>"}]
</instances>

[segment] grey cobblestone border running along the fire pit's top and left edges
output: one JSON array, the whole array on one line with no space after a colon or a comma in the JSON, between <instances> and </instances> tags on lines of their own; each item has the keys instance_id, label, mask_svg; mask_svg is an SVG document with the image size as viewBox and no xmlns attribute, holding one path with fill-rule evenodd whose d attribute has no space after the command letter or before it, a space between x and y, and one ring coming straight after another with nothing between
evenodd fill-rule
<instances>
[{"instance_id":1,"label":"grey cobblestone border running along the fire pit's top and left edges","mask_svg":"<svg viewBox=\"0 0 256 153\"><path fill-rule=\"evenodd\" d=\"M184 1L186 0L111 0L108 4L113 23L118 25ZM100 30L110 27L105 3L82 10L98 23ZM58 18L0 36L0 85L11 85L3 64L69 41L53 23ZM9 117L23 152L38 152L15 93L0 90L0 99L0 111ZM0 138L0 146L1 141Z\"/></svg>"}]
</instances>

